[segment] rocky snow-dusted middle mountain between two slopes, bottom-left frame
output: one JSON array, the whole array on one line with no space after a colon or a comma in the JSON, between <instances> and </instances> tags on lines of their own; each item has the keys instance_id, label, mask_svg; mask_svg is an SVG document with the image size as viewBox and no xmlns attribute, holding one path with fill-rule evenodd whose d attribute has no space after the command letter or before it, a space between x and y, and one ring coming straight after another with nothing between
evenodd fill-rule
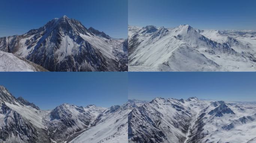
<instances>
[{"instance_id":1,"label":"rocky snow-dusted middle mountain between two slopes, bottom-left frame","mask_svg":"<svg viewBox=\"0 0 256 143\"><path fill-rule=\"evenodd\" d=\"M89 127L91 116L83 108L63 104L51 111L46 121L49 137L57 142L64 142L73 133Z\"/></svg>"}]
</instances>

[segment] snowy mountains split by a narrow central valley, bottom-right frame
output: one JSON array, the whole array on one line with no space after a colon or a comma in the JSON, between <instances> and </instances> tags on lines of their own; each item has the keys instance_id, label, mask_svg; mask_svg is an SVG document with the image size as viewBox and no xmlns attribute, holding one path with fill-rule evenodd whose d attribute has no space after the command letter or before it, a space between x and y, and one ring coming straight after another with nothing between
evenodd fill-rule
<instances>
[{"instance_id":1,"label":"snowy mountains split by a narrow central valley, bottom-right frame","mask_svg":"<svg viewBox=\"0 0 256 143\"><path fill-rule=\"evenodd\" d=\"M129 143L253 143L256 102L155 98L128 117Z\"/></svg>"}]
</instances>

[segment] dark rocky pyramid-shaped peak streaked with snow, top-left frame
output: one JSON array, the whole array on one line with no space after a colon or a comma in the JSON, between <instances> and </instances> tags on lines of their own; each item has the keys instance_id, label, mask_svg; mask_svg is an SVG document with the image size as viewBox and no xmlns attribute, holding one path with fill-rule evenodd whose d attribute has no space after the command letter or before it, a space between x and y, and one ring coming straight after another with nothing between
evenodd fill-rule
<instances>
[{"instance_id":1,"label":"dark rocky pyramid-shaped peak streaked with snow, top-left frame","mask_svg":"<svg viewBox=\"0 0 256 143\"><path fill-rule=\"evenodd\" d=\"M85 28L67 16L23 35L0 38L0 50L49 71L127 71L126 40ZM127 48L126 48L127 49Z\"/></svg>"}]
</instances>

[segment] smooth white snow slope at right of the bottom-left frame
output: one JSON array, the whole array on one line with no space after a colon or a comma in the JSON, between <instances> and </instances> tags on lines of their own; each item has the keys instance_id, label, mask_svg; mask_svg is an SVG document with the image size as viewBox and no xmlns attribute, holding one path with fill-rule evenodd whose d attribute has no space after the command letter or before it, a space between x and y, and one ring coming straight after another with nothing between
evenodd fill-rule
<instances>
[{"instance_id":1,"label":"smooth white snow slope at right of the bottom-left frame","mask_svg":"<svg viewBox=\"0 0 256 143\"><path fill-rule=\"evenodd\" d=\"M91 127L70 143L127 143L128 105L112 106L98 115Z\"/></svg>"}]
</instances>

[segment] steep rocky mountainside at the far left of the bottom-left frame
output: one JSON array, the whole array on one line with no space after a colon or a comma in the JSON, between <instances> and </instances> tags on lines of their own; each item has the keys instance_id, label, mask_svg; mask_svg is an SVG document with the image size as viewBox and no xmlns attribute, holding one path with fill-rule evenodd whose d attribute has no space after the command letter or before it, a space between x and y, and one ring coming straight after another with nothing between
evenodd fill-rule
<instances>
[{"instance_id":1,"label":"steep rocky mountainside at the far left of the bottom-left frame","mask_svg":"<svg viewBox=\"0 0 256 143\"><path fill-rule=\"evenodd\" d=\"M0 142L50 143L39 110L19 102L0 86Z\"/></svg>"}]
</instances>

